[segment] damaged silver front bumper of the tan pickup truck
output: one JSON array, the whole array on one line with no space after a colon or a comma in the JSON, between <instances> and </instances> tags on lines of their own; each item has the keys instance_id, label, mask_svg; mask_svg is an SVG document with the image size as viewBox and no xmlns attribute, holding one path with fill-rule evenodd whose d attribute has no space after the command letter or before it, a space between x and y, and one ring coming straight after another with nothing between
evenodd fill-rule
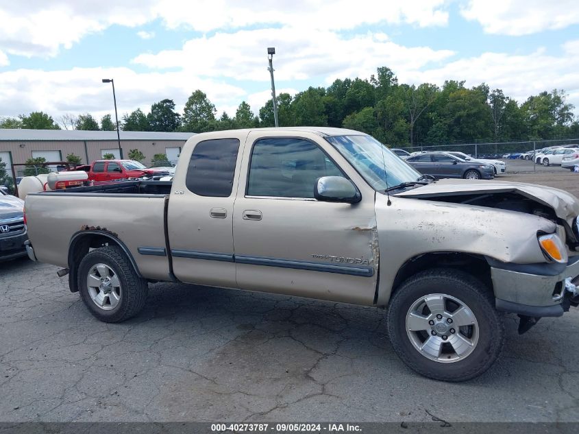
<instances>
[{"instance_id":1,"label":"damaged silver front bumper of the tan pickup truck","mask_svg":"<svg viewBox=\"0 0 579 434\"><path fill-rule=\"evenodd\" d=\"M505 264L489 259L495 291L495 305L500 311L529 317L563 315L565 280L579 283L579 256L567 264Z\"/></svg>"}]
</instances>

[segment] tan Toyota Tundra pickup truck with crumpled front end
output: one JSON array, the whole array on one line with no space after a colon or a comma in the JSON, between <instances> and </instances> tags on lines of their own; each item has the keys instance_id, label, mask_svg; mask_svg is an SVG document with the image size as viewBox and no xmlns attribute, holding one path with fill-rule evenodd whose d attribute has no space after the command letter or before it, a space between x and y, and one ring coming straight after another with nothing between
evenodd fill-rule
<instances>
[{"instance_id":1,"label":"tan Toyota Tundra pickup truck with crumpled front end","mask_svg":"<svg viewBox=\"0 0 579 434\"><path fill-rule=\"evenodd\" d=\"M579 301L576 197L435 181L352 130L197 134L172 182L32 193L25 212L29 256L101 321L160 280L387 307L399 357L445 381L495 361L504 312L523 333Z\"/></svg>"}]
</instances>

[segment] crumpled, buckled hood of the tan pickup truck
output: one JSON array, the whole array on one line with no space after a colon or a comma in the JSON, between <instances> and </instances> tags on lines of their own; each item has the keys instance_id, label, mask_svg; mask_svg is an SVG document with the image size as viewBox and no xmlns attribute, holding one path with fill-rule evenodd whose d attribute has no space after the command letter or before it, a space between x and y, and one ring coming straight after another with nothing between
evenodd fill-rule
<instances>
[{"instance_id":1,"label":"crumpled, buckled hood of the tan pickup truck","mask_svg":"<svg viewBox=\"0 0 579 434\"><path fill-rule=\"evenodd\" d=\"M555 211L557 217L564 219L569 225L579 215L579 200L571 193L553 187L524 184L523 182L443 179L419 186L416 189L397 193L395 196L428 197L436 200L436 197L470 193L519 193L549 206Z\"/></svg>"}]
</instances>

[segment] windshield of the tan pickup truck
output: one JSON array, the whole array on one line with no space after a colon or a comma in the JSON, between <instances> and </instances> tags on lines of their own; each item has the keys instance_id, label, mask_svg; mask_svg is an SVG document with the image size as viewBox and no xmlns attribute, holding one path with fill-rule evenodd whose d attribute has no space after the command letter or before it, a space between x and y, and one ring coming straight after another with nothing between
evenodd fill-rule
<instances>
[{"instance_id":1,"label":"windshield of the tan pickup truck","mask_svg":"<svg viewBox=\"0 0 579 434\"><path fill-rule=\"evenodd\" d=\"M371 136L326 137L375 190L413 182L421 177L407 162ZM386 168L384 170L384 168Z\"/></svg>"}]
</instances>

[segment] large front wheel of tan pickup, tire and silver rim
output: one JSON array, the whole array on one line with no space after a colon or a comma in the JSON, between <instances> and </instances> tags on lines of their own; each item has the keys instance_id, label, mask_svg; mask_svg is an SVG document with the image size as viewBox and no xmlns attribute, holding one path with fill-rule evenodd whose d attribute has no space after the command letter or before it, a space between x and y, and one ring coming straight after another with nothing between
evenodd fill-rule
<instances>
[{"instance_id":1,"label":"large front wheel of tan pickup, tire and silver rim","mask_svg":"<svg viewBox=\"0 0 579 434\"><path fill-rule=\"evenodd\" d=\"M391 299L388 331L408 367L440 381L479 376L504 343L491 291L456 269L430 269L406 280Z\"/></svg>"}]
</instances>

